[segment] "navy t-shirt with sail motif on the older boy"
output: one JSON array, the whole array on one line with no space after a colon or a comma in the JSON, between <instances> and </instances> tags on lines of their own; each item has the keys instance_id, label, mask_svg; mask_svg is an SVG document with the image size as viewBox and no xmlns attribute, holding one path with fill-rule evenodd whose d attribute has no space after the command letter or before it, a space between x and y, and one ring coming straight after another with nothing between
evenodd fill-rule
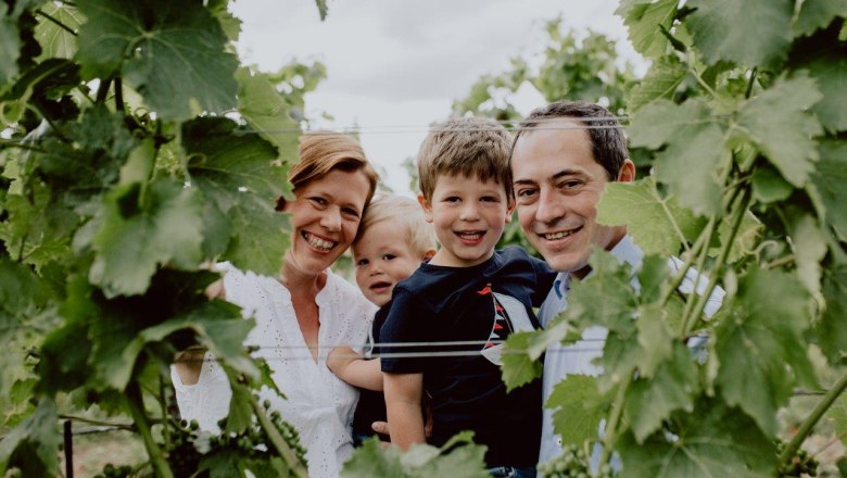
<instances>
[{"instance_id":1,"label":"navy t-shirt with sail motif on the older boy","mask_svg":"<svg viewBox=\"0 0 847 478\"><path fill-rule=\"evenodd\" d=\"M423 374L432 405L430 443L473 430L475 442L488 445L489 467L535 465L541 380L507 393L500 352L513 331L539 328L532 307L541 305L555 277L545 262L513 247L472 267L423 263L397 284L380 341L454 342L382 348L389 354L382 372Z\"/></svg>"}]
</instances>

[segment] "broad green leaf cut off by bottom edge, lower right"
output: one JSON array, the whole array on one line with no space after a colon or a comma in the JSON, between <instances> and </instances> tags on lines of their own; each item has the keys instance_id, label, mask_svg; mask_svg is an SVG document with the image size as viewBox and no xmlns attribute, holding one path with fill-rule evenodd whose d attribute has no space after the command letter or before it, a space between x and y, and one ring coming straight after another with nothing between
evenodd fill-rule
<instances>
[{"instance_id":1,"label":"broad green leaf cut off by bottom edge, lower right","mask_svg":"<svg viewBox=\"0 0 847 478\"><path fill-rule=\"evenodd\" d=\"M775 445L736 408L701 399L693 413L675 413L672 424L672 430L657 431L643 443L632 433L621 437L616 450L623 462L623 476L773 476Z\"/></svg>"}]
</instances>

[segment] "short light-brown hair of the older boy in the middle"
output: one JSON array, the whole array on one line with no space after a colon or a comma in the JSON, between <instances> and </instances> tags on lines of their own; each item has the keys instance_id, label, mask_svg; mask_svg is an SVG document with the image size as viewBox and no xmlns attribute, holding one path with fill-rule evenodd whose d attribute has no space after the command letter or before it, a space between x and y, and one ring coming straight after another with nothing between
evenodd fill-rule
<instances>
[{"instance_id":1,"label":"short light-brown hair of the older boy in the middle","mask_svg":"<svg viewBox=\"0 0 847 478\"><path fill-rule=\"evenodd\" d=\"M427 201L432 200L439 176L495 180L511 201L509 152L511 135L497 123L479 117L447 120L437 125L418 151L418 181Z\"/></svg>"}]
</instances>

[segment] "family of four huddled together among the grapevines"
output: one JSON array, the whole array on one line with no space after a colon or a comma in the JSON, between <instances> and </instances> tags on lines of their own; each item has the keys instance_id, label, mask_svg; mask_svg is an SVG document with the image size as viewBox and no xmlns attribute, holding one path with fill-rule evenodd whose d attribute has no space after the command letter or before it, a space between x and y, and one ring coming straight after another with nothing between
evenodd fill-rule
<instances>
[{"instance_id":1,"label":"family of four huddled together among the grapevines","mask_svg":"<svg viewBox=\"0 0 847 478\"><path fill-rule=\"evenodd\" d=\"M570 101L533 111L514 135L488 120L450 120L423 140L417 167L417 203L371 202L378 176L356 140L305 135L289 176L295 199L279 204L292 229L279 276L223 263L212 293L255 317L245 344L287 395L269 395L271 408L299 430L309 476L337 477L376 422L404 450L472 430L491 476L534 477L560 451L543 401L569 374L598 374L599 352L548 350L543 378L507 393L503 341L567 307L594 247L641 261L625 226L596 223L604 186L635 177L623 130L603 106ZM515 211L544 261L495 250ZM349 247L358 289L330 268ZM705 287L687 276L682 292ZM179 362L172 377L181 416L215 430L231 395L216 362Z\"/></svg>"}]
</instances>

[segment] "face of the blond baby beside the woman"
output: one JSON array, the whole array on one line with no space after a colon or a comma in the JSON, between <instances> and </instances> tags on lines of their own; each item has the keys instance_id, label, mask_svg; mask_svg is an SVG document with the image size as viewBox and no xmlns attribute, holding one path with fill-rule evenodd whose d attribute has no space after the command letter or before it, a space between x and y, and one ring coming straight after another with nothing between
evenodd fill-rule
<instances>
[{"instance_id":1,"label":"face of the blond baby beside the woman","mask_svg":"<svg viewBox=\"0 0 847 478\"><path fill-rule=\"evenodd\" d=\"M379 306L391 300L394 286L410 276L423 260L409 251L405 230L397 229L391 221L379 222L368 227L353 246L356 284Z\"/></svg>"}]
</instances>

